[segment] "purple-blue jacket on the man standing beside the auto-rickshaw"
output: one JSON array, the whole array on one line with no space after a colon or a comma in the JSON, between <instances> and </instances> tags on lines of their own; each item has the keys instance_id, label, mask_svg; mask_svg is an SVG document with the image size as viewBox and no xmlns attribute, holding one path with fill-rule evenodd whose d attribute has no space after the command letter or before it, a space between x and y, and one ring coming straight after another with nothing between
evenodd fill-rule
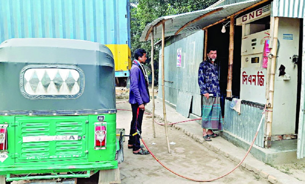
<instances>
[{"instance_id":1,"label":"purple-blue jacket on the man standing beside the auto-rickshaw","mask_svg":"<svg viewBox=\"0 0 305 184\"><path fill-rule=\"evenodd\" d=\"M133 62L130 70L129 103L149 103L149 94L146 90L145 77L138 63Z\"/></svg>"}]
</instances>

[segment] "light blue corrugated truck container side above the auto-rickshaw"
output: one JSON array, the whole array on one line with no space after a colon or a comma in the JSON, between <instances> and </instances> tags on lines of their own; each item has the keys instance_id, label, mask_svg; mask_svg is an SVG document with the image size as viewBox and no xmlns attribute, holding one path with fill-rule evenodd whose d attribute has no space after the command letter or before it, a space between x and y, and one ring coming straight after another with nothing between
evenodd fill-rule
<instances>
[{"instance_id":1,"label":"light blue corrugated truck container side above the auto-rickshaw","mask_svg":"<svg viewBox=\"0 0 305 184\"><path fill-rule=\"evenodd\" d=\"M0 0L1 42L70 38L130 47L129 0Z\"/></svg>"}]
</instances>

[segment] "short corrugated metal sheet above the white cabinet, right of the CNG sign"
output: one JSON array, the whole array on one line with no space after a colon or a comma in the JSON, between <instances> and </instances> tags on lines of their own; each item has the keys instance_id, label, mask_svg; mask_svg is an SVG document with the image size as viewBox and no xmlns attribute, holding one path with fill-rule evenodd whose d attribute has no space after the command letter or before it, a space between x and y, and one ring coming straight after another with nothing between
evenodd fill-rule
<instances>
[{"instance_id":1,"label":"short corrugated metal sheet above the white cabinet, right of the CNG sign","mask_svg":"<svg viewBox=\"0 0 305 184\"><path fill-rule=\"evenodd\" d=\"M303 18L305 0L276 0L272 6L272 16Z\"/></svg>"}]
</instances>

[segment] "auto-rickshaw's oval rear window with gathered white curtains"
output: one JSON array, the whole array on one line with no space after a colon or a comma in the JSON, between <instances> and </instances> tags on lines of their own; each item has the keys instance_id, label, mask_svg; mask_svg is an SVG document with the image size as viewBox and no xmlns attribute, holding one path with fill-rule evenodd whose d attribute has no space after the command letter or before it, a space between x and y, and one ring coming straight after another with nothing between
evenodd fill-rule
<instances>
[{"instance_id":1,"label":"auto-rickshaw's oval rear window with gathered white curtains","mask_svg":"<svg viewBox=\"0 0 305 184\"><path fill-rule=\"evenodd\" d=\"M75 99L84 91L84 73L75 66L30 65L20 74L20 90L29 99Z\"/></svg>"}]
</instances>

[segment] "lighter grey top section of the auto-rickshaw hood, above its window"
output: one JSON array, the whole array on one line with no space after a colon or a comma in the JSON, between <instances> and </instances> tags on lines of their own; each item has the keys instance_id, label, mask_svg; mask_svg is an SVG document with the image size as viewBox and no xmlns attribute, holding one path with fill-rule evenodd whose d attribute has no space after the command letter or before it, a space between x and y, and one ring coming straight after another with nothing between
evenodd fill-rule
<instances>
[{"instance_id":1,"label":"lighter grey top section of the auto-rickshaw hood, above its window","mask_svg":"<svg viewBox=\"0 0 305 184\"><path fill-rule=\"evenodd\" d=\"M13 38L0 45L1 62L93 64L114 67L111 51L96 42L62 38ZM18 52L18 54L16 53ZM104 52L106 58L96 58ZM46 60L47 59L47 60ZM98 63L97 63L98 62Z\"/></svg>"}]
</instances>

